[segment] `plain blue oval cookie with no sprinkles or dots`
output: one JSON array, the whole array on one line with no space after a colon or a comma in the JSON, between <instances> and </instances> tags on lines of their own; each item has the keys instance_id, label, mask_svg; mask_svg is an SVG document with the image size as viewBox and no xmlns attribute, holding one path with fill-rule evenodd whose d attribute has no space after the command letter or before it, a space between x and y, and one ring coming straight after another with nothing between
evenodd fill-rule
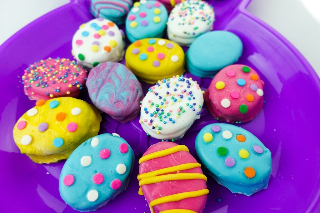
<instances>
[{"instance_id":1,"label":"plain blue oval cookie with no sprinkles or dots","mask_svg":"<svg viewBox=\"0 0 320 213\"><path fill-rule=\"evenodd\" d=\"M198 37L186 53L186 68L193 75L211 77L238 61L243 45L228 31L212 31Z\"/></svg>"}]
</instances>

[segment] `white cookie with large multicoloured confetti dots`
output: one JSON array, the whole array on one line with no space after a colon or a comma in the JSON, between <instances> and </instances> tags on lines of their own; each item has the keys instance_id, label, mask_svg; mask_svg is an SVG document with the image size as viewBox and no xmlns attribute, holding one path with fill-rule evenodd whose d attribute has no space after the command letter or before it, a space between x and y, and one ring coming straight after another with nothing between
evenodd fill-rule
<instances>
[{"instance_id":1,"label":"white cookie with large multicoloured confetti dots","mask_svg":"<svg viewBox=\"0 0 320 213\"><path fill-rule=\"evenodd\" d=\"M124 56L123 34L115 23L98 18L82 24L72 39L78 64L91 69L99 63L118 62Z\"/></svg>"}]
</instances>

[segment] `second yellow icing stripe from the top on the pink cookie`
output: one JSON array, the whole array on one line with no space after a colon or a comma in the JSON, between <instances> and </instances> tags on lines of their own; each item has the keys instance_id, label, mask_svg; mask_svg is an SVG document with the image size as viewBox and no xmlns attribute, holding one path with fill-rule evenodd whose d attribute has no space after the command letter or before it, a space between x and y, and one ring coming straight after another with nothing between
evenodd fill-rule
<instances>
[{"instance_id":1,"label":"second yellow icing stripe from the top on the pink cookie","mask_svg":"<svg viewBox=\"0 0 320 213\"><path fill-rule=\"evenodd\" d=\"M175 171L181 171L181 170L187 170L187 169L193 169L196 167L201 167L201 164L198 163L189 163L189 164L180 164L177 166L172 166L164 169L158 169L156 171L150 171L147 173L143 173L138 175L138 180L144 179L144 178L149 178L149 177L154 177L157 175L162 175L170 172L175 172Z\"/></svg>"}]
</instances>

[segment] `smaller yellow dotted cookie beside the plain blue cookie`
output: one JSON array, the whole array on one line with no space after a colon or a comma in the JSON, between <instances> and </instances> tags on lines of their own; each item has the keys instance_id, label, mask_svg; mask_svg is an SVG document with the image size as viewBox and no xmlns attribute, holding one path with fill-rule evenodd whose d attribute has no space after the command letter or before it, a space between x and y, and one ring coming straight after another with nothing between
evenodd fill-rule
<instances>
[{"instance_id":1,"label":"smaller yellow dotted cookie beside the plain blue cookie","mask_svg":"<svg viewBox=\"0 0 320 213\"><path fill-rule=\"evenodd\" d=\"M126 66L149 84L184 72L182 48L162 38L146 38L132 43L125 53Z\"/></svg>"}]
</instances>

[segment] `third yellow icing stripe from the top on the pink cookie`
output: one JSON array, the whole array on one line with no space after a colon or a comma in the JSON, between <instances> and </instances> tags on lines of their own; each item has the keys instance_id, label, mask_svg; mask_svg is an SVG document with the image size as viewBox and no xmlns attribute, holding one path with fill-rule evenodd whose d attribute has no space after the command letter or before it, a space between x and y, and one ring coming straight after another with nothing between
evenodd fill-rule
<instances>
[{"instance_id":1,"label":"third yellow icing stripe from the top on the pink cookie","mask_svg":"<svg viewBox=\"0 0 320 213\"><path fill-rule=\"evenodd\" d=\"M168 180L192 180L192 179L203 179L207 181L207 177L200 173L177 173L177 174L168 174L168 175L161 175L155 177L144 178L139 181L139 186L159 183L162 181Z\"/></svg>"}]
</instances>

